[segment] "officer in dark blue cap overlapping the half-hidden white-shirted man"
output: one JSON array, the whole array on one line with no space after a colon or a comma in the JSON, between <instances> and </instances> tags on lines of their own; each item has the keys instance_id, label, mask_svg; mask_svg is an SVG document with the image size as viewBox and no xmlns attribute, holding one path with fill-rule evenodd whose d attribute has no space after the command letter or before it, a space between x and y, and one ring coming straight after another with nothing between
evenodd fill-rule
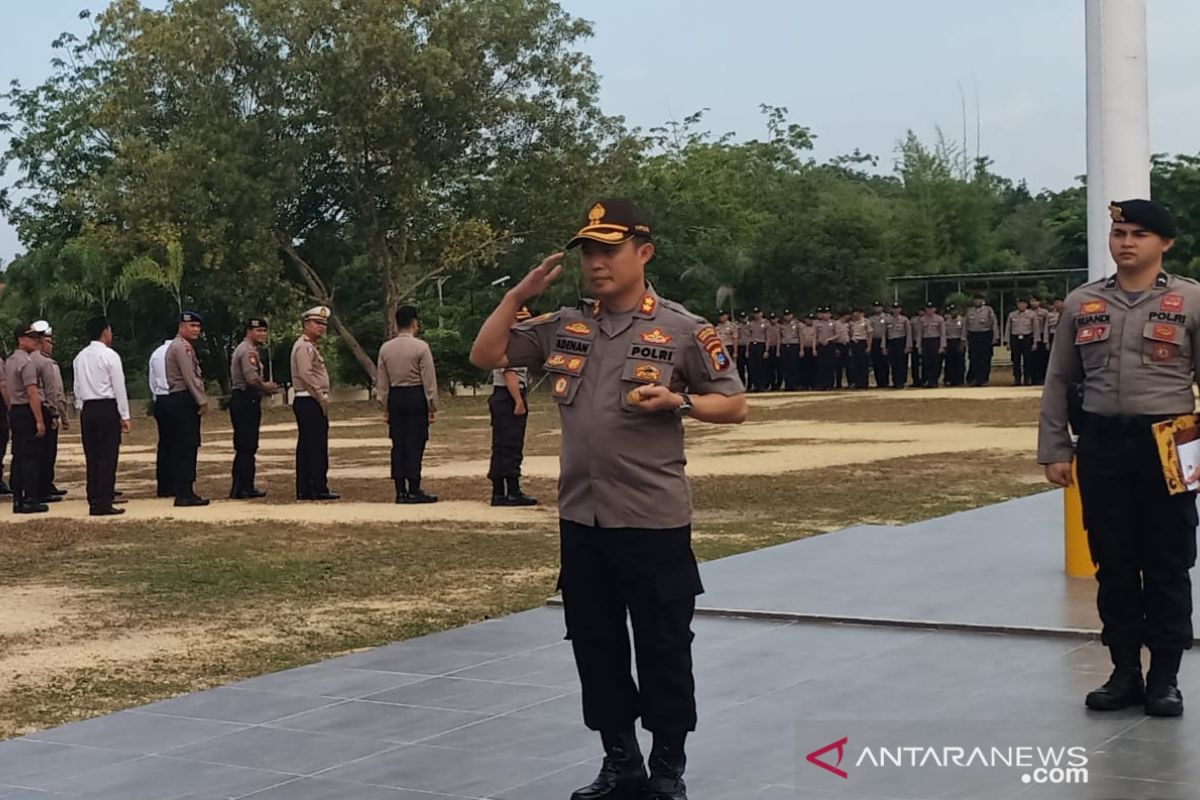
<instances>
[{"instance_id":1,"label":"officer in dark blue cap overlapping the half-hidden white-shirted man","mask_svg":"<svg viewBox=\"0 0 1200 800\"><path fill-rule=\"evenodd\" d=\"M204 318L194 311L179 315L179 332L167 348L167 408L173 428L170 475L176 506L206 506L209 501L193 488L196 461L200 450L200 417L209 410L196 342Z\"/></svg>"}]
</instances>

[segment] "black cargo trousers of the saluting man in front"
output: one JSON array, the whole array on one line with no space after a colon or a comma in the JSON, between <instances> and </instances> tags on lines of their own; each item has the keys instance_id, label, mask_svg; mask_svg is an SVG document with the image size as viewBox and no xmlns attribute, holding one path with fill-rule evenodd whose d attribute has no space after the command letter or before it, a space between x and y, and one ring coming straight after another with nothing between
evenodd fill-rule
<instances>
[{"instance_id":1,"label":"black cargo trousers of the saluting man in front","mask_svg":"<svg viewBox=\"0 0 1200 800\"><path fill-rule=\"evenodd\" d=\"M559 589L583 688L583 722L655 733L696 729L691 619L703 591L691 527L593 528L563 519ZM630 673L626 614L637 682Z\"/></svg>"}]
</instances>

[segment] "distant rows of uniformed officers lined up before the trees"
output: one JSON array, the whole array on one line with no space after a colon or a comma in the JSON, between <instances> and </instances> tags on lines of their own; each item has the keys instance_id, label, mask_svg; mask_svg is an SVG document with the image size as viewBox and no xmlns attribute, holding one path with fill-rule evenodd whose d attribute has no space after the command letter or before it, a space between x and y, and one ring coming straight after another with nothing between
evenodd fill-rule
<instances>
[{"instance_id":1,"label":"distant rows of uniformed officers lined up before the trees","mask_svg":"<svg viewBox=\"0 0 1200 800\"><path fill-rule=\"evenodd\" d=\"M824 306L805 318L784 309L779 318L755 308L742 312L738 321L722 311L716 330L725 348L736 354L738 375L751 392L868 389L872 379L881 389L902 389L910 377L913 386L934 387L940 381L986 386L992 350L1001 341L996 312L983 295L976 295L965 314L953 303L944 315L938 311L928 303L910 317L900 303L893 303L888 313L876 301L870 315L854 308L835 317ZM1025 314L1015 320L1015 331L1028 323L1038 331L1038 341L1045 339L1045 315ZM1032 341L1030 348L1034 351Z\"/></svg>"}]
</instances>

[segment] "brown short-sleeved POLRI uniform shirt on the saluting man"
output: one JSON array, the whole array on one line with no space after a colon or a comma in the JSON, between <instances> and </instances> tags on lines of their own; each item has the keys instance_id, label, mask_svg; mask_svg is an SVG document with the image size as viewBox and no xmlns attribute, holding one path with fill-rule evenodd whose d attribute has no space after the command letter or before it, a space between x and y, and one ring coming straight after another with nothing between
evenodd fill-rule
<instances>
[{"instance_id":1,"label":"brown short-sleeved POLRI uniform shirt on the saluting man","mask_svg":"<svg viewBox=\"0 0 1200 800\"><path fill-rule=\"evenodd\" d=\"M683 420L638 411L628 396L647 384L743 393L714 326L647 287L632 313L568 307L516 324L508 359L550 377L563 428L563 519L601 528L690 524Z\"/></svg>"}]
</instances>

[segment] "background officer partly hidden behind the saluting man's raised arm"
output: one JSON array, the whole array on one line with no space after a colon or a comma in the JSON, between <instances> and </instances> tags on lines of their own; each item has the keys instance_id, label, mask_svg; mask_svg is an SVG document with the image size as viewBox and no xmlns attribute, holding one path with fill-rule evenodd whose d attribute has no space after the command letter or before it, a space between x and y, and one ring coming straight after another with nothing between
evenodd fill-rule
<instances>
[{"instance_id":1,"label":"background officer partly hidden behind the saluting man's raised arm","mask_svg":"<svg viewBox=\"0 0 1200 800\"><path fill-rule=\"evenodd\" d=\"M522 306L512 319L523 323L532 317L529 309ZM728 314L721 312L721 319L727 323ZM492 369L492 396L487 398L487 410L492 417L492 463L487 470L487 479L492 481L492 505L538 505L535 498L521 491L524 433L529 421L526 391L529 386L529 371L524 367Z\"/></svg>"}]
</instances>

